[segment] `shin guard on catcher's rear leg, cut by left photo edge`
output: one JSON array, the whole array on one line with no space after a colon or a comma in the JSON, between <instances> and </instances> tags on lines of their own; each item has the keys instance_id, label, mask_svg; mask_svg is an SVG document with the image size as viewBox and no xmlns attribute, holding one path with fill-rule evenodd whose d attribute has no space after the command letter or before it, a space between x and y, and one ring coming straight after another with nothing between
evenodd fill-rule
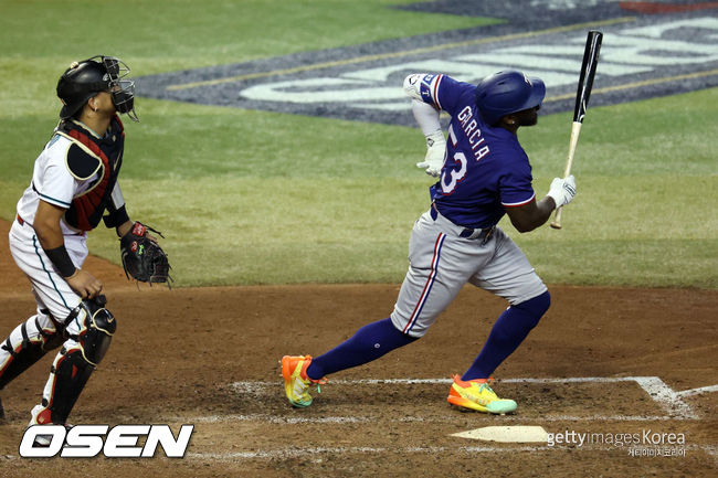
<instances>
[{"instance_id":1,"label":"shin guard on catcher's rear leg, cut by left photo edge","mask_svg":"<svg viewBox=\"0 0 718 478\"><path fill-rule=\"evenodd\" d=\"M63 342L60 326L42 309L22 322L0 346L0 390Z\"/></svg>"}]
</instances>

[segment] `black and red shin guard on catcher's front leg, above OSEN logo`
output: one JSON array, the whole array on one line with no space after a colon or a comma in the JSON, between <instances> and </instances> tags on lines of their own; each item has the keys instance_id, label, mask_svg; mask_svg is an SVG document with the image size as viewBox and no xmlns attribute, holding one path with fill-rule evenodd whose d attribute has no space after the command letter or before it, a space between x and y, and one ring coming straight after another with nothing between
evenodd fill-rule
<instances>
[{"instance_id":1,"label":"black and red shin guard on catcher's front leg, above OSEN logo","mask_svg":"<svg viewBox=\"0 0 718 478\"><path fill-rule=\"evenodd\" d=\"M104 296L83 300L67 318L70 339L57 353L50 370L50 379L42 396L42 406L50 413L38 413L40 424L66 422L89 375L105 357L117 329L115 317L104 308L105 302ZM72 327L72 321L76 321L80 327L77 333L72 330L76 328Z\"/></svg>"}]
</instances>

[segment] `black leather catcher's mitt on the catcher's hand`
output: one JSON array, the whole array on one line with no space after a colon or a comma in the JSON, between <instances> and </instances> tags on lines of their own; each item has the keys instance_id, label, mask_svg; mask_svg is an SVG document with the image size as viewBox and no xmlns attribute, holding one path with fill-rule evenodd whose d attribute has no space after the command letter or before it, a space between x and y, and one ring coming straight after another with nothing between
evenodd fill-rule
<instances>
[{"instance_id":1,"label":"black leather catcher's mitt on the catcher's hand","mask_svg":"<svg viewBox=\"0 0 718 478\"><path fill-rule=\"evenodd\" d=\"M142 283L167 283L170 285L172 278L169 275L169 261L167 254L149 237L147 231L165 237L159 231L135 222L133 227L119 240L119 251L123 257L123 267L125 275L129 279L133 276L135 280Z\"/></svg>"}]
</instances>

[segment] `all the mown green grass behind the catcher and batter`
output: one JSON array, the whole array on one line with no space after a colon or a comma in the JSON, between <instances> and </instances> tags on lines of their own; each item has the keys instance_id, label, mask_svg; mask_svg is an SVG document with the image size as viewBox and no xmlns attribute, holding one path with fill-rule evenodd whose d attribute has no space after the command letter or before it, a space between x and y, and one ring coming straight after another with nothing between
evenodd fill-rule
<instances>
[{"instance_id":1,"label":"all the mown green grass behind the catcher and batter","mask_svg":"<svg viewBox=\"0 0 718 478\"><path fill-rule=\"evenodd\" d=\"M14 215L56 123L54 85L70 61L112 53L142 75L485 21L387 8L397 3L0 1L0 41L18 45L0 56L0 216ZM76 28L93 15L113 19L115 33L99 21ZM433 182L414 167L416 128L137 103L120 183L133 217L167 236L178 285L403 278ZM718 88L590 109L564 229L503 223L546 282L718 287L716 104ZM545 116L519 132L539 195L563 170L570 123ZM118 263L114 232L98 229L89 245Z\"/></svg>"}]
</instances>

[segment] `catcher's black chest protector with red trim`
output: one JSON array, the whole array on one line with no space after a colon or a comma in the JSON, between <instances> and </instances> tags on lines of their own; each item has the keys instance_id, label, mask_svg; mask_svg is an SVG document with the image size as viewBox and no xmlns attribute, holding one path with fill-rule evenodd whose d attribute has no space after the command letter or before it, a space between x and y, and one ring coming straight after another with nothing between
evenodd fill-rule
<instances>
[{"instance_id":1,"label":"catcher's black chest protector with red trim","mask_svg":"<svg viewBox=\"0 0 718 478\"><path fill-rule=\"evenodd\" d=\"M117 182L125 149L125 131L117 116L112 120L104 138L95 138L80 125L63 121L59 135L74 144L67 150L67 168L78 180L97 178L83 194L72 201L65 221L81 231L97 227Z\"/></svg>"}]
</instances>

